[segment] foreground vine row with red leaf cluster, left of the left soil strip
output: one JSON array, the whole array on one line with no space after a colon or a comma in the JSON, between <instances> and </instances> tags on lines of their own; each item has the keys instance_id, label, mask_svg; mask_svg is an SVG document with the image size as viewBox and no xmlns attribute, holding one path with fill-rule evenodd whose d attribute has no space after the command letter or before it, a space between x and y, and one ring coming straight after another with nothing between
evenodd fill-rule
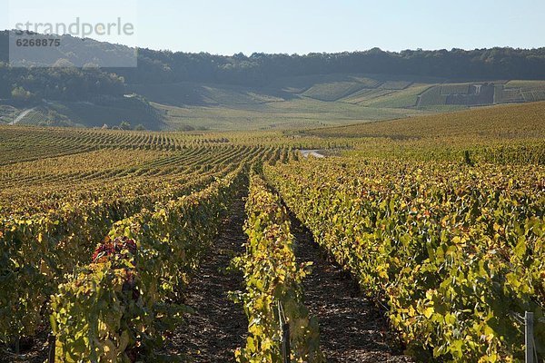
<instances>
[{"instance_id":1,"label":"foreground vine row with red leaf cluster, left of the left soil strip","mask_svg":"<svg viewBox=\"0 0 545 363\"><path fill-rule=\"evenodd\" d=\"M135 361L162 340L168 319L183 307L168 304L203 258L222 211L243 187L243 167L203 191L143 210L115 223L52 300L58 361Z\"/></svg>"}]
</instances>

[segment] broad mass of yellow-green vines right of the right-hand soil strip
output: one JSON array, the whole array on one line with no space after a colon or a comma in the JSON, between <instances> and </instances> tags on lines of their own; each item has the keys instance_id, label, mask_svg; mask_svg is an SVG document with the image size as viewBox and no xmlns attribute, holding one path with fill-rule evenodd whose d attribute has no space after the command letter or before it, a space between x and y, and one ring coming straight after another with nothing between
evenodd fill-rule
<instances>
[{"instance_id":1,"label":"broad mass of yellow-green vines right of the right-hand soil strip","mask_svg":"<svg viewBox=\"0 0 545 363\"><path fill-rule=\"evenodd\" d=\"M542 168L333 158L264 172L413 351L520 359L516 317L545 307ZM543 324L535 339L545 355Z\"/></svg>"}]
</instances>

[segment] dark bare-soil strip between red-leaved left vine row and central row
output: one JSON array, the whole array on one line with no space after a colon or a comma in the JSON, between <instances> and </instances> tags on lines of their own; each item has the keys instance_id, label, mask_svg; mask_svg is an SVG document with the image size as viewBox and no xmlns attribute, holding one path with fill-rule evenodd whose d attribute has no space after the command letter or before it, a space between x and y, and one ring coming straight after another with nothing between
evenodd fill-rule
<instances>
[{"instance_id":1,"label":"dark bare-soil strip between red-leaved left vine row and central row","mask_svg":"<svg viewBox=\"0 0 545 363\"><path fill-rule=\"evenodd\" d=\"M235 201L229 214L187 291L184 303L197 313L188 316L188 324L174 332L168 347L171 354L187 355L193 362L234 361L234 348L245 344L248 320L243 308L227 296L230 290L243 289L243 276L225 272L233 256L243 252L244 201Z\"/></svg>"}]
</instances>

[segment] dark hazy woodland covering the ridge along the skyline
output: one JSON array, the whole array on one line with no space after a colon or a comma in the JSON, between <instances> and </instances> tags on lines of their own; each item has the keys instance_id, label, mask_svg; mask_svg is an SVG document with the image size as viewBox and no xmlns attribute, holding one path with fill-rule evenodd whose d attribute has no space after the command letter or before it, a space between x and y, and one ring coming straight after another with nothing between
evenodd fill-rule
<instances>
[{"instance_id":1,"label":"dark hazy woodland covering the ridge along the skyline","mask_svg":"<svg viewBox=\"0 0 545 363\"><path fill-rule=\"evenodd\" d=\"M281 77L310 74L410 74L450 80L545 79L545 48L492 48L465 51L364 52L339 54L214 54L173 53L140 49L137 68L75 69L8 67L8 32L0 33L0 98L21 102L33 99L83 100L97 95L119 95L124 83L184 81L264 86ZM112 44L74 42L85 54ZM89 49L91 48L91 50ZM63 59L64 54L59 54ZM4 64L3 64L4 63Z\"/></svg>"}]
</instances>

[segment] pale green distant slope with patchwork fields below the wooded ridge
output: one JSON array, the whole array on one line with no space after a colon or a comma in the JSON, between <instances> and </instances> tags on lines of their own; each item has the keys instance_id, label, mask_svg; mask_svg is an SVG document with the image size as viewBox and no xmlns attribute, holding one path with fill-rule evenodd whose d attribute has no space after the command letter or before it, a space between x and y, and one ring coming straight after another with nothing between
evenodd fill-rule
<instances>
[{"instance_id":1,"label":"pale green distant slope with patchwork fields below the wooded ridge","mask_svg":"<svg viewBox=\"0 0 545 363\"><path fill-rule=\"evenodd\" d=\"M165 113L167 129L190 126L212 130L282 130L464 110L467 105L445 103L448 94L468 93L471 84L475 83L446 83L446 80L412 76L318 74L286 77L261 88L173 83L131 85L130 91L143 94ZM545 100L545 92L540 93L543 83L494 84L496 103Z\"/></svg>"}]
</instances>

